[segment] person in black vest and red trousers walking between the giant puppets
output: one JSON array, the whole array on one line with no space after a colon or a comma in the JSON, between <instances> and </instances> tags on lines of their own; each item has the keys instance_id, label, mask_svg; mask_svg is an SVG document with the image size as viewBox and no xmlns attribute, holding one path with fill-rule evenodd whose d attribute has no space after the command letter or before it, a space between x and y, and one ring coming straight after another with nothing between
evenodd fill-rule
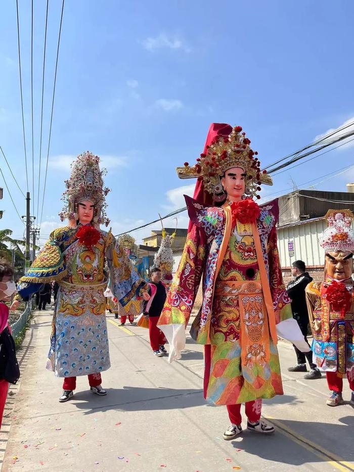
<instances>
[{"instance_id":1,"label":"person in black vest and red trousers walking between the giant puppets","mask_svg":"<svg viewBox=\"0 0 354 472\"><path fill-rule=\"evenodd\" d=\"M160 328L156 325L166 301L166 286L161 281L161 270L158 267L153 267L150 273L151 282L148 283L150 299L144 300L143 313L145 317L149 318L150 345L154 356L161 357L163 354L167 354L165 349L167 341Z\"/></svg>"}]
</instances>

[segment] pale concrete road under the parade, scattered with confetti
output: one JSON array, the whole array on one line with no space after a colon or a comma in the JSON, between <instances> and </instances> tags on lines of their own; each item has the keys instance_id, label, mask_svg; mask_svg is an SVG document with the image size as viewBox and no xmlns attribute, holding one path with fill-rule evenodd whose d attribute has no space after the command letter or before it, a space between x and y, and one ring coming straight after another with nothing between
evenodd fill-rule
<instances>
[{"instance_id":1,"label":"pale concrete road under the parade, scattered with confetti","mask_svg":"<svg viewBox=\"0 0 354 472\"><path fill-rule=\"evenodd\" d=\"M3 472L354 470L354 409L325 405L325 379L304 381L301 373L287 371L295 360L291 345L279 345L285 395L263 403L276 434L245 431L227 442L226 409L203 400L202 347L187 340L183 359L169 365L153 357L144 328L108 319L108 395L93 395L79 377L74 399L60 404L62 381L44 368L51 313L36 314L21 384L13 389L12 426L8 432L6 419L0 435ZM347 383L344 397L349 399Z\"/></svg>"}]
</instances>

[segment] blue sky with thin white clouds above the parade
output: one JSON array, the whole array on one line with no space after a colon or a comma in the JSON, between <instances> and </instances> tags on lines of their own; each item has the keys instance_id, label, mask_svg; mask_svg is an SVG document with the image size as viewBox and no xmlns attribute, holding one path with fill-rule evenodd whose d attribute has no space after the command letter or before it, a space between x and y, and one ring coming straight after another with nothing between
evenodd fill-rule
<instances>
[{"instance_id":1,"label":"blue sky with thin white clouds above the parade","mask_svg":"<svg viewBox=\"0 0 354 472\"><path fill-rule=\"evenodd\" d=\"M46 2L34 4L36 213ZM50 2L42 176L60 9L59 0ZM32 192L30 2L19 0L19 13ZM67 0L42 242L60 224L57 214L64 179L73 157L83 151L103 156L108 168L106 183L112 188L108 215L117 233L155 219L158 212L183 206L183 192L191 194L193 182L179 180L174 169L185 161L194 162L213 121L243 126L264 167L354 119L353 15L354 5L340 0L222 4ZM0 145L26 191L14 2L0 7L0 69ZM354 164L353 149L347 145L279 174L264 195L291 187L291 178L301 187L312 178ZM2 155L0 166L22 215L25 201ZM344 191L350 180L354 180L353 170L316 188ZM42 187L41 183L40 195ZM0 206L6 210L1 226L22 235L23 225L5 190ZM187 226L184 214L179 226ZM150 229L132 235L140 240Z\"/></svg>"}]
</instances>

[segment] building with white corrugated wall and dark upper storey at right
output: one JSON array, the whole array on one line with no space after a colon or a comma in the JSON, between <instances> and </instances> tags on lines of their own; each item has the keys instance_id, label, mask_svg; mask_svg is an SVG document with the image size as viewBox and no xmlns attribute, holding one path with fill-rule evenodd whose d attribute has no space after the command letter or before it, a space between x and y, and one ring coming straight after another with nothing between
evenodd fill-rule
<instances>
[{"instance_id":1,"label":"building with white corrugated wall and dark upper storey at right","mask_svg":"<svg viewBox=\"0 0 354 472\"><path fill-rule=\"evenodd\" d=\"M354 210L354 193L297 190L279 197L278 249L284 280L291 279L295 260L305 262L315 280L323 279L325 254L318 238L326 227L324 216L332 210Z\"/></svg>"}]
</instances>

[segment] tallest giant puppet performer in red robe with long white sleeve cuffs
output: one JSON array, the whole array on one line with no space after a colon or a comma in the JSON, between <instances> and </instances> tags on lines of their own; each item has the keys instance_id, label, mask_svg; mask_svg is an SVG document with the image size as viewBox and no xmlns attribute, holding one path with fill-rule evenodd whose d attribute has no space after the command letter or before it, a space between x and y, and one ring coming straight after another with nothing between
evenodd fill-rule
<instances>
[{"instance_id":1,"label":"tallest giant puppet performer in red robe with long white sleeve cuffs","mask_svg":"<svg viewBox=\"0 0 354 472\"><path fill-rule=\"evenodd\" d=\"M259 207L260 184L272 184L260 171L257 153L240 126L213 123L197 164L178 169L181 178L198 177L195 199L186 197L190 226L186 246L162 311L159 327L169 344L169 361L180 358L203 274L203 303L191 335L205 345L204 398L227 405L231 426L224 439L247 429L274 431L260 420L261 399L283 394L277 329L304 351L308 346L292 317L277 250L275 202ZM213 206L207 206L213 204Z\"/></svg>"}]
</instances>

